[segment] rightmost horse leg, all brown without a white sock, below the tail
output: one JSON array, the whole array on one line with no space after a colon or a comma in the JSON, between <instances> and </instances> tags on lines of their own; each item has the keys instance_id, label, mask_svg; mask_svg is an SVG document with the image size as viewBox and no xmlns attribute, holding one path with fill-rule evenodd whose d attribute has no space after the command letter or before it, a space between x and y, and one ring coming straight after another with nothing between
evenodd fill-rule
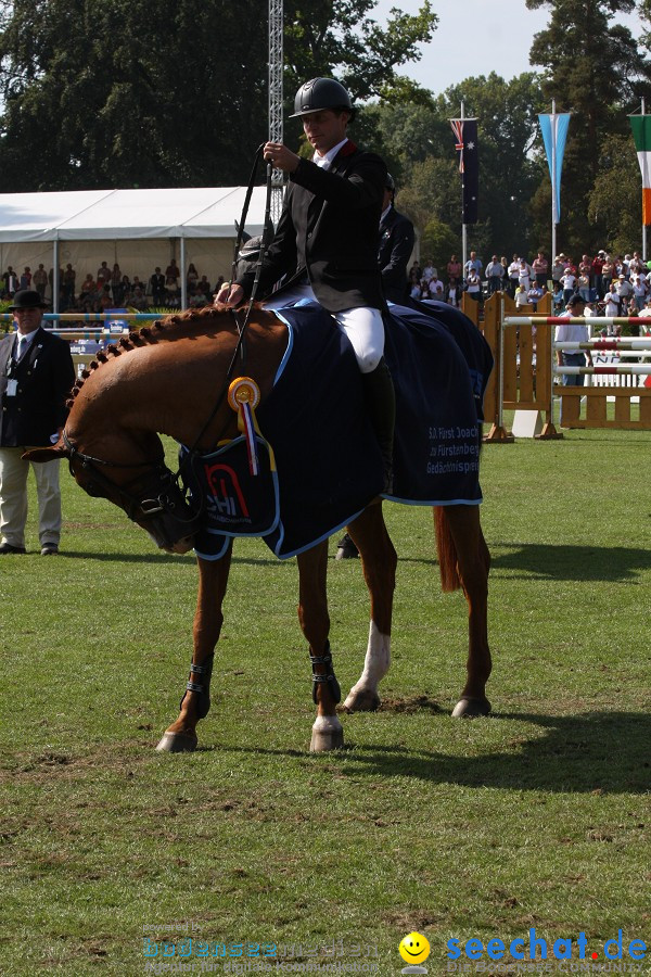
<instances>
[{"instance_id":1,"label":"rightmost horse leg, all brown without a white sock, below the tail","mask_svg":"<svg viewBox=\"0 0 651 977\"><path fill-rule=\"evenodd\" d=\"M487 715L490 712L490 702L486 698L486 683L493 667L488 648L490 555L482 532L478 508L445 506L437 512L438 519L447 520L457 550L457 570L468 601L467 681L452 710L454 716Z\"/></svg>"}]
</instances>

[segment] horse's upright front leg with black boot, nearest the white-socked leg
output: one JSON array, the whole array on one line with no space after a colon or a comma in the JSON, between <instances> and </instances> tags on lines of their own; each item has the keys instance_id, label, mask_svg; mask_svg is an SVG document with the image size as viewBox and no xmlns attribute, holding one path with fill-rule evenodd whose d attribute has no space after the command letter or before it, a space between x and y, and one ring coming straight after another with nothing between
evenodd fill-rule
<instances>
[{"instance_id":1,"label":"horse's upright front leg with black boot, nearest the white-socked leg","mask_svg":"<svg viewBox=\"0 0 651 977\"><path fill-rule=\"evenodd\" d=\"M336 714L341 699L339 682L330 654L330 616L328 613L327 572L328 541L319 543L297 557L298 621L309 645L312 667L312 700L317 719L309 748L312 752L335 750L344 745L344 731Z\"/></svg>"}]
</instances>

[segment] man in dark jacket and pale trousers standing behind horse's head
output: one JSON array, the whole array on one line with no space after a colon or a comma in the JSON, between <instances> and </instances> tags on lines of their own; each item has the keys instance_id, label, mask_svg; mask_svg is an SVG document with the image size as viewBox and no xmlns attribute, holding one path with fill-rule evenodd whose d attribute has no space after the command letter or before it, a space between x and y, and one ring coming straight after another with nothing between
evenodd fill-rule
<instances>
[{"instance_id":1,"label":"man in dark jacket and pale trousers standing behind horse's head","mask_svg":"<svg viewBox=\"0 0 651 977\"><path fill-rule=\"evenodd\" d=\"M75 382L68 343L41 327L44 308L38 292L16 292L10 309L17 332L0 340L0 555L25 553L29 461L21 456L59 439ZM33 467L41 554L51 556L59 553L61 535L59 461Z\"/></svg>"}]
</instances>

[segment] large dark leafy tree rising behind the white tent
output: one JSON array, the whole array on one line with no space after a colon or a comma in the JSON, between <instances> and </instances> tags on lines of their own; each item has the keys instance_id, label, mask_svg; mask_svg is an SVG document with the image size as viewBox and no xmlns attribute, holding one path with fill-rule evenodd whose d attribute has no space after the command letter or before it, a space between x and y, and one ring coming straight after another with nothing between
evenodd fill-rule
<instances>
[{"instance_id":1,"label":"large dark leafy tree rising behind the white tent","mask_svg":"<svg viewBox=\"0 0 651 977\"><path fill-rule=\"evenodd\" d=\"M375 5L285 2L292 102L297 79L318 74L358 99L399 97L395 68L419 56L436 17L425 0L382 30ZM264 11L260 25L260 0L7 2L3 190L241 183L268 129Z\"/></svg>"}]
</instances>

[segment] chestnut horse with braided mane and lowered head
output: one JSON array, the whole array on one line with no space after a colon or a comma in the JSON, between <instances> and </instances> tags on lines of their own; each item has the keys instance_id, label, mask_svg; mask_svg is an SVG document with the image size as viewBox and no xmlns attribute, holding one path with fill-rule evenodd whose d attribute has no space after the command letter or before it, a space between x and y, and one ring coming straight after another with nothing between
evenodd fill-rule
<instances>
[{"instance_id":1,"label":"chestnut horse with braided mane and lowered head","mask_svg":"<svg viewBox=\"0 0 651 977\"><path fill-rule=\"evenodd\" d=\"M86 492L120 506L159 547L188 551L199 529L197 513L164 464L158 434L202 453L238 436L237 418L226 398L226 381L238 342L234 316L214 308L173 316L154 323L151 330L130 333L119 346L98 354L100 363L93 363L77 381L58 444L36 448L29 452L29 458L67 458L73 475ZM259 309L253 313L246 328L245 372L258 384L263 401L272 389L286 342L283 322ZM222 380L225 386L219 393ZM434 512L443 587L451 591L461 586L469 609L467 681L452 715L485 715L490 710L485 694L490 673L486 623L489 555L478 506L449 505L436 507ZM390 664L397 563L380 498L349 524L348 532L361 555L371 622L363 671L344 708L372 710L380 705L378 685ZM190 676L178 719L164 733L158 750L178 752L196 747L196 725L210 703L213 656L224 621L231 553L232 540L221 558L199 558ZM301 553L297 563L298 620L309 645L317 706L310 749L330 750L343 745L343 729L336 713L340 689L329 645L328 541Z\"/></svg>"}]
</instances>

